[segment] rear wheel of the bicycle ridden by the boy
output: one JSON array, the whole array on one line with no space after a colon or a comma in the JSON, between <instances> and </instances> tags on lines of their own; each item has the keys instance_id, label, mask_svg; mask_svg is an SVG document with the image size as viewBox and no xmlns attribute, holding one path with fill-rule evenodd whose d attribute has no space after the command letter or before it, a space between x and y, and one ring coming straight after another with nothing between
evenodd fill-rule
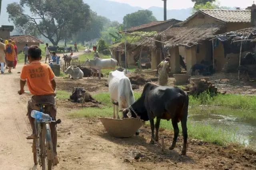
<instances>
[{"instance_id":1,"label":"rear wheel of the bicycle ridden by the boy","mask_svg":"<svg viewBox=\"0 0 256 170\"><path fill-rule=\"evenodd\" d=\"M41 135L41 166L42 170L52 170L53 163L53 145L50 133L49 124L43 125L42 135ZM47 169L46 169L47 167Z\"/></svg>"}]
</instances>

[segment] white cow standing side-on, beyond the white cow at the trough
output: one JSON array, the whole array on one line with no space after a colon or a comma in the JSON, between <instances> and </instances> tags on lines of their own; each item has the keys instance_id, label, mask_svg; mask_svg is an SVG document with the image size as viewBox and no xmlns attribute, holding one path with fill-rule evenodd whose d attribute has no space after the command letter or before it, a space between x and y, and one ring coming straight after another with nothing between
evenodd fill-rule
<instances>
[{"instance_id":1,"label":"white cow standing side-on, beyond the white cow at the trough","mask_svg":"<svg viewBox=\"0 0 256 170\"><path fill-rule=\"evenodd\" d=\"M85 66L92 69L96 69L99 72L99 79L101 78L101 69L115 69L118 66L116 59L100 59L95 58L94 60L87 59L84 63Z\"/></svg>"}]
</instances>

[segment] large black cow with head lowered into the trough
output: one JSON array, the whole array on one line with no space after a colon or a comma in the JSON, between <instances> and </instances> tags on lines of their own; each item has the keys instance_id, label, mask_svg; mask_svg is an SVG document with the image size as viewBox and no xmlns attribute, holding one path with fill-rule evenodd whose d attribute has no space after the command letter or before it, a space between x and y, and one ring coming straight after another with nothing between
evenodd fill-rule
<instances>
[{"instance_id":1,"label":"large black cow with head lowered into the trough","mask_svg":"<svg viewBox=\"0 0 256 170\"><path fill-rule=\"evenodd\" d=\"M178 122L181 121L183 133L183 148L182 154L186 154L187 144L187 117L188 117L188 95L178 87L158 86L154 83L146 83L141 97L130 107L121 110L123 115L140 117L144 121L150 121L151 127L151 144L154 140L158 141L158 130L160 120L165 119L169 121L172 119L172 126L174 128L174 139L170 150L176 146L176 141L179 134ZM129 114L128 114L129 115ZM156 137L154 136L154 118L156 117Z\"/></svg>"}]
</instances>

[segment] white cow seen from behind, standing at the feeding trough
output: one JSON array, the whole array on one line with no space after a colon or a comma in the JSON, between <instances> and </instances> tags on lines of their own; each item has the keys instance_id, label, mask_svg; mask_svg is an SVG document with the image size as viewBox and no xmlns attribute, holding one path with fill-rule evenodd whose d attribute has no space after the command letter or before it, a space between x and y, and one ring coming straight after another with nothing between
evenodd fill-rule
<instances>
[{"instance_id":1,"label":"white cow seen from behind, standing at the feeding trough","mask_svg":"<svg viewBox=\"0 0 256 170\"><path fill-rule=\"evenodd\" d=\"M121 71L112 71L108 76L110 100L114 104L114 119L119 119L118 110L129 107L135 102L130 79ZM118 106L118 107L117 107Z\"/></svg>"}]
</instances>

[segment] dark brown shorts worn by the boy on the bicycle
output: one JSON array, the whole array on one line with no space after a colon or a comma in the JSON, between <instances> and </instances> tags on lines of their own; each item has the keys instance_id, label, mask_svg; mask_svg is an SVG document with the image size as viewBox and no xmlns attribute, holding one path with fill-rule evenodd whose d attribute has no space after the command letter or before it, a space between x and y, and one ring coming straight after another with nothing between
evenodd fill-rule
<instances>
[{"instance_id":1,"label":"dark brown shorts worn by the boy on the bicycle","mask_svg":"<svg viewBox=\"0 0 256 170\"><path fill-rule=\"evenodd\" d=\"M39 110L38 106L36 106L36 103L40 102L47 102L47 103L52 103L53 106L50 106L47 110L50 112L49 114L56 119L56 105L55 105L55 97L54 95L34 95L32 96L31 100L28 101L28 113L27 115L30 116L32 110Z\"/></svg>"}]
</instances>

